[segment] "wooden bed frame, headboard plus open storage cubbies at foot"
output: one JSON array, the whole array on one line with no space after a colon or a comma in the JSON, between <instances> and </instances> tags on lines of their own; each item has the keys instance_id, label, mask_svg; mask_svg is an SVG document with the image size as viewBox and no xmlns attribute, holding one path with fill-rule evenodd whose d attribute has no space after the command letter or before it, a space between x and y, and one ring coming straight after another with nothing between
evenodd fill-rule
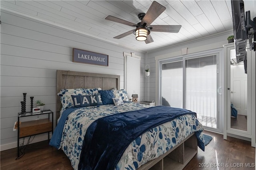
<instances>
[{"instance_id":1,"label":"wooden bed frame, headboard plus open storage cubbies at foot","mask_svg":"<svg viewBox=\"0 0 256 170\"><path fill-rule=\"evenodd\" d=\"M68 88L120 89L120 76L88 72L57 70L57 89ZM61 109L60 98L56 97L56 124ZM181 170L197 153L197 139L194 133L158 158L140 166L138 170Z\"/></svg>"}]
</instances>

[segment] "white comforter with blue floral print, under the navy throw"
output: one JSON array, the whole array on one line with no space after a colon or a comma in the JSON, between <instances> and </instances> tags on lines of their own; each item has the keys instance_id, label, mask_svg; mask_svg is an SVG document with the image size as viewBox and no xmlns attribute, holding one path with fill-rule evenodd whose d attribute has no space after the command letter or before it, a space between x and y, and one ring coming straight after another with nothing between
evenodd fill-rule
<instances>
[{"instance_id":1,"label":"white comforter with blue floral print, under the navy throw","mask_svg":"<svg viewBox=\"0 0 256 170\"><path fill-rule=\"evenodd\" d=\"M147 107L152 106L129 102L119 106L80 107L70 113L65 122L60 148L70 159L72 167L77 170L84 135L93 121L100 117ZM192 132L203 130L202 124L194 115L180 116L150 129L127 147L116 170L136 170L146 162L172 149ZM199 135L199 140L203 141L202 133Z\"/></svg>"}]
</instances>

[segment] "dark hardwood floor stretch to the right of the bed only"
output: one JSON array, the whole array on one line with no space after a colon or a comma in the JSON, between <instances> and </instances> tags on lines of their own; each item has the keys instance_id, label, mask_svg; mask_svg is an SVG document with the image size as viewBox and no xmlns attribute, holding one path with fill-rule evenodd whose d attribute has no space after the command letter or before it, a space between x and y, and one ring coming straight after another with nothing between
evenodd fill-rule
<instances>
[{"instance_id":1,"label":"dark hardwood floor stretch to the right of the bed only","mask_svg":"<svg viewBox=\"0 0 256 170\"><path fill-rule=\"evenodd\" d=\"M255 170L255 148L251 142L233 137L224 140L223 135L209 131L203 133L212 136L212 141L204 152L198 148L196 156L183 170ZM199 167L202 163L206 167ZM219 167L214 167L217 165ZM254 167L246 167L249 165Z\"/></svg>"}]
</instances>

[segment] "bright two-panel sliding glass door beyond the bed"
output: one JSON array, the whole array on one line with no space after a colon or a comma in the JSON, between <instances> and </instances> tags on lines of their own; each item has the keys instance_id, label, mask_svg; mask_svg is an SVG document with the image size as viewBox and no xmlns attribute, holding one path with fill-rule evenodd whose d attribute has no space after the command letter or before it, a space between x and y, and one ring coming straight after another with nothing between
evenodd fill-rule
<instances>
[{"instance_id":1,"label":"bright two-panel sliding glass door beyond the bed","mask_svg":"<svg viewBox=\"0 0 256 170\"><path fill-rule=\"evenodd\" d=\"M202 125L218 128L218 57L204 55L162 61L160 102L197 113Z\"/></svg>"}]
</instances>

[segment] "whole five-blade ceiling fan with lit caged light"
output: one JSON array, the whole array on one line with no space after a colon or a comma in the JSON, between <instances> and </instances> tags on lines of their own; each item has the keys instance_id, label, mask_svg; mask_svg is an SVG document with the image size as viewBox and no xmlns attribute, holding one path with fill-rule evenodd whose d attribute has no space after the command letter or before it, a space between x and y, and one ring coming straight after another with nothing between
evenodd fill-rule
<instances>
[{"instance_id":1,"label":"whole five-blade ceiling fan with lit caged light","mask_svg":"<svg viewBox=\"0 0 256 170\"><path fill-rule=\"evenodd\" d=\"M120 18L116 18L114 16L107 16L105 19L109 21L114 21L118 23L122 23L125 25L129 25L132 27L136 27L131 31L118 35L114 38L120 39L126 37L134 33L136 35L136 40L145 41L146 44L154 42L150 35L150 31L157 32L168 32L168 33L178 33L180 31L181 25L150 25L162 12L164 12L166 8L154 1L148 9L148 12L138 14L138 18L141 20L139 23L135 24L126 20L122 20Z\"/></svg>"}]
</instances>

